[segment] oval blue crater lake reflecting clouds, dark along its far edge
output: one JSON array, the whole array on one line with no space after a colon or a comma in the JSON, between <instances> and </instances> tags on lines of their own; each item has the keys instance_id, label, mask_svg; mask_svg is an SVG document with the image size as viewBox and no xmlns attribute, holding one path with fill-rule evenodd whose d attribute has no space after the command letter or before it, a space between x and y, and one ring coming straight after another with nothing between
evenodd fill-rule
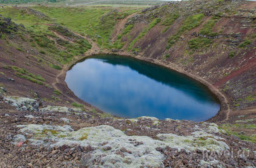
<instances>
[{"instance_id":1,"label":"oval blue crater lake reflecting clouds, dark along its far edge","mask_svg":"<svg viewBox=\"0 0 256 168\"><path fill-rule=\"evenodd\" d=\"M119 55L95 55L67 71L83 101L120 117L207 120L220 105L207 87L165 67Z\"/></svg>"}]
</instances>

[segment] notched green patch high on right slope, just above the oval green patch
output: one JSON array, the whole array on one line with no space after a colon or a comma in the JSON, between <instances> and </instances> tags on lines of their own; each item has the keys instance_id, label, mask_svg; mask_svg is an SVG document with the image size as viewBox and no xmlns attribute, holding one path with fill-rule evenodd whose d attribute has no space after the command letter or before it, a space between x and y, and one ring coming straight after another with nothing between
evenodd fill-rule
<instances>
[{"instance_id":1,"label":"notched green patch high on right slope, just above the oval green patch","mask_svg":"<svg viewBox=\"0 0 256 168\"><path fill-rule=\"evenodd\" d=\"M220 19L218 16L213 16L208 22L203 25L203 28L201 28L199 33L206 36L217 36L218 32L213 32L213 28L218 19Z\"/></svg>"}]
</instances>

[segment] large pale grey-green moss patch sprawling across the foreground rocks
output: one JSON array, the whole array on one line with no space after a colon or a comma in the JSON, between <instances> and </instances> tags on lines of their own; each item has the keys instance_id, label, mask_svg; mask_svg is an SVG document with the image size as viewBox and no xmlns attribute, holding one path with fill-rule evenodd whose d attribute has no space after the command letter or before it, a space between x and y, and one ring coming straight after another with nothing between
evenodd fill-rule
<instances>
[{"instance_id":1,"label":"large pale grey-green moss patch sprawling across the foreground rocks","mask_svg":"<svg viewBox=\"0 0 256 168\"><path fill-rule=\"evenodd\" d=\"M123 131L108 125L87 127L74 131L70 126L53 126L28 124L18 125L21 133L33 134L29 138L33 145L47 147L61 147L63 145L79 144L81 147L91 146L90 153L85 154L81 163L93 168L94 161L100 162L101 168L140 168L152 166L164 168L164 154L159 152L159 147L174 147L187 152L194 150L228 150L225 139L210 134L218 130L215 124L195 131L192 136L177 136L172 133L159 134L160 140L147 136L127 136ZM216 128L215 128L216 127ZM52 143L45 143L50 139ZM224 142L223 142L224 141Z\"/></svg>"}]
</instances>

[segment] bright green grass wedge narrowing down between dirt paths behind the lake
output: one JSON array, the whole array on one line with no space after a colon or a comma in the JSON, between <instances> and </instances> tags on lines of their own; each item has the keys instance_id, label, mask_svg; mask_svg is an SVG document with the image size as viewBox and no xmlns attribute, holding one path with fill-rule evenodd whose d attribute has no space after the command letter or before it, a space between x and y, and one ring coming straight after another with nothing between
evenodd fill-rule
<instances>
[{"instance_id":1,"label":"bright green grass wedge narrowing down between dirt paths behind the lake","mask_svg":"<svg viewBox=\"0 0 256 168\"><path fill-rule=\"evenodd\" d=\"M110 48L111 33L114 25L123 17L136 12L134 8L120 8L111 10L104 7L33 7L47 14L62 26L81 35L89 35L102 48Z\"/></svg>"}]
</instances>

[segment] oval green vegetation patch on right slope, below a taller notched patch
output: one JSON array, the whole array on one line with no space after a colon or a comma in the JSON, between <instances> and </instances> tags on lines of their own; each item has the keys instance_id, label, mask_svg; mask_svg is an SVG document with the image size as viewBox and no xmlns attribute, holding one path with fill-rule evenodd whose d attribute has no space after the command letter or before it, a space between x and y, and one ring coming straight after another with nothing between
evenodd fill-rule
<instances>
[{"instance_id":1,"label":"oval green vegetation patch on right slope, below a taller notched patch","mask_svg":"<svg viewBox=\"0 0 256 168\"><path fill-rule=\"evenodd\" d=\"M192 50L197 50L199 48L206 48L212 44L212 39L204 37L196 37L188 41L188 46Z\"/></svg>"}]
</instances>

